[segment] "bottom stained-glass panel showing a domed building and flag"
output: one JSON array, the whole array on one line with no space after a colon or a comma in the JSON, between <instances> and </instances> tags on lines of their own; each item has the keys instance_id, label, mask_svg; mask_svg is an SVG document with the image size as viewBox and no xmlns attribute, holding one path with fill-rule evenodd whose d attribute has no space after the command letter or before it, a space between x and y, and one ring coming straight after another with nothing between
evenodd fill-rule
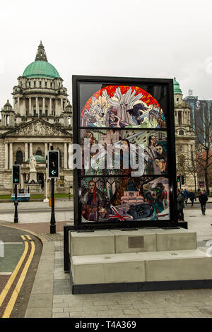
<instances>
[{"instance_id":1,"label":"bottom stained-glass panel showing a domed building and flag","mask_svg":"<svg viewBox=\"0 0 212 332\"><path fill-rule=\"evenodd\" d=\"M84 177L79 197L82 223L170 218L166 177Z\"/></svg>"}]
</instances>

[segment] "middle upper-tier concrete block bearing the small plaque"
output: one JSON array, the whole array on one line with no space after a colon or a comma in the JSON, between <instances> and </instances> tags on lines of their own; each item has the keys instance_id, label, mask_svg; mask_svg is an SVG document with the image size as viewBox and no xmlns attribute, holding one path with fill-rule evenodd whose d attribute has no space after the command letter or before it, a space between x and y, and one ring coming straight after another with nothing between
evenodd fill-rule
<instances>
[{"instance_id":1,"label":"middle upper-tier concrete block bearing the small plaque","mask_svg":"<svg viewBox=\"0 0 212 332\"><path fill-rule=\"evenodd\" d=\"M111 230L115 237L116 254L140 251L156 251L156 235L153 230Z\"/></svg>"}]
</instances>

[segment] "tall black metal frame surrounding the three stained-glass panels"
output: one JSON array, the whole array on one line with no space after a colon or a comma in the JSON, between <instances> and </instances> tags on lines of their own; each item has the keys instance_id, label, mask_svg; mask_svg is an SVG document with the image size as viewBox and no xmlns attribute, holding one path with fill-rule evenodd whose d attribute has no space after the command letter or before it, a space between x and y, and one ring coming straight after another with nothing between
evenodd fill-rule
<instances>
[{"instance_id":1,"label":"tall black metal frame surrounding the three stained-glass panels","mask_svg":"<svg viewBox=\"0 0 212 332\"><path fill-rule=\"evenodd\" d=\"M85 129L85 127L80 127L79 117L79 85L80 83L97 83L102 85L136 85L148 93L154 96L154 87L160 86L166 91L167 109L169 112L166 114L167 128L158 129L160 131L167 132L167 164L168 164L168 174L167 178L170 182L170 220L148 220L148 221L134 221L122 223L81 223L81 211L79 208L79 198L78 198L78 179L81 178L80 170L73 170L73 193L74 193L74 226L78 230L98 230L98 229L112 229L121 227L176 227L179 226L177 223L177 184L176 184L176 162L175 162L175 116L174 116L174 96L173 96L173 81L172 79L160 79L160 78L122 78L122 77L105 77L105 76L72 76L72 87L73 87L73 143L79 144L79 129ZM163 100L155 99L160 103ZM162 107L163 108L163 107ZM86 129L97 129L89 128ZM101 128L107 129L107 128ZM111 128L110 128L111 129ZM134 130L134 129L133 129ZM141 130L141 129L140 129ZM145 129L148 130L148 129ZM153 128L151 131L155 130ZM157 129L156 129L157 130ZM151 174L149 175L151 176ZM94 176L98 177L98 176ZM166 176L165 176L166 177Z\"/></svg>"}]
</instances>

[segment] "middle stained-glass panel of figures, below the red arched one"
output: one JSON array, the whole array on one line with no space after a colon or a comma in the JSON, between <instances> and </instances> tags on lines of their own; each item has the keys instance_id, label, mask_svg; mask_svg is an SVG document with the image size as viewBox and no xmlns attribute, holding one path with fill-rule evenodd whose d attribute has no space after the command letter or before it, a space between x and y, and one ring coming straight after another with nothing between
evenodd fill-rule
<instances>
[{"instance_id":1,"label":"middle stained-glass panel of figures, below the red arched one","mask_svg":"<svg viewBox=\"0 0 212 332\"><path fill-rule=\"evenodd\" d=\"M81 175L126 175L126 170L138 170L137 176L167 174L165 131L81 129L80 133Z\"/></svg>"}]
</instances>

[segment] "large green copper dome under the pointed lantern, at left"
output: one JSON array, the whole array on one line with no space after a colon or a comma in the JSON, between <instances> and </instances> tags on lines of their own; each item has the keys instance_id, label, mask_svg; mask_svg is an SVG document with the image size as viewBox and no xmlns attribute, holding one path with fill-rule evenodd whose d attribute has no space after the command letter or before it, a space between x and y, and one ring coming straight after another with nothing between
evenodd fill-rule
<instances>
[{"instance_id":1,"label":"large green copper dome under the pointed lantern, at left","mask_svg":"<svg viewBox=\"0 0 212 332\"><path fill-rule=\"evenodd\" d=\"M32 64L29 64L25 71L23 72L23 76L27 78L34 77L45 77L45 78L59 78L59 73L57 69L49 64L47 61L35 61Z\"/></svg>"}]
</instances>

